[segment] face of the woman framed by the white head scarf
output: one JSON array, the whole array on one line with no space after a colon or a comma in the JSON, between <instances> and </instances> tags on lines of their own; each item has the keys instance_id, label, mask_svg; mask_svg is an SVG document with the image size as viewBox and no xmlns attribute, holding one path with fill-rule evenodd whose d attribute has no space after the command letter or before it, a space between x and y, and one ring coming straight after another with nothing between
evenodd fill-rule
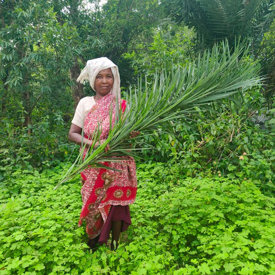
<instances>
[{"instance_id":1,"label":"face of the woman framed by the white head scarf","mask_svg":"<svg viewBox=\"0 0 275 275\"><path fill-rule=\"evenodd\" d=\"M104 97L109 94L113 86L113 75L111 69L105 69L98 73L95 78L95 92L97 96Z\"/></svg>"}]
</instances>

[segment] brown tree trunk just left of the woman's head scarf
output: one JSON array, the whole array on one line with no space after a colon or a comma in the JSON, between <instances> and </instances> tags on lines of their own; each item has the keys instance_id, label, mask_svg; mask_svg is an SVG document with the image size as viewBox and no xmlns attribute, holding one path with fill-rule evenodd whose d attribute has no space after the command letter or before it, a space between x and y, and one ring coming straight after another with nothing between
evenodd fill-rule
<instances>
[{"instance_id":1,"label":"brown tree trunk just left of the woman's head scarf","mask_svg":"<svg viewBox=\"0 0 275 275\"><path fill-rule=\"evenodd\" d=\"M75 103L75 108L77 108L79 101L84 96L83 84L76 81L80 75L80 72L81 72L81 70L80 70L79 63L77 61L77 57L75 57L74 65L70 68L70 80L73 83L71 85L71 91L72 91L72 96L73 96L74 103Z\"/></svg>"}]
</instances>

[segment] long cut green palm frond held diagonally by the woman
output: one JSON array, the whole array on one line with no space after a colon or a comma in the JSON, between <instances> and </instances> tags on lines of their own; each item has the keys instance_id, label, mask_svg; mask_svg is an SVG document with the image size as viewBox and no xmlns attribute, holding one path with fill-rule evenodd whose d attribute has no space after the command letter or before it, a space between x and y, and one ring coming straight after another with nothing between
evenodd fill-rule
<instances>
[{"instance_id":1,"label":"long cut green palm frond held diagonally by the woman","mask_svg":"<svg viewBox=\"0 0 275 275\"><path fill-rule=\"evenodd\" d=\"M228 43L224 42L221 47L214 46L211 52L206 51L196 62L184 68L169 74L156 73L151 85L146 81L142 85L140 80L127 98L130 111L125 114L116 111L118 119L106 141L97 148L89 149L83 162L82 150L58 186L74 178L88 165L100 168L103 162L119 162L121 156L135 156L137 149L131 148L131 131L139 130L146 135L174 118L189 115L196 106L216 102L258 85L258 69L247 62L247 52L245 44L238 44L231 53ZM92 139L98 141L99 136L100 126ZM108 143L111 149L105 152Z\"/></svg>"}]
</instances>

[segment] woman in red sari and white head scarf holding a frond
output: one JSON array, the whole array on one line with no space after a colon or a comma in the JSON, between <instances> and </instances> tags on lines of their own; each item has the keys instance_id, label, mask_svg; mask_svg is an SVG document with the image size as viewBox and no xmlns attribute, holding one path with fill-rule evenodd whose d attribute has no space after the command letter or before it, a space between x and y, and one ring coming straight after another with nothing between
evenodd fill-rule
<instances>
[{"instance_id":1,"label":"woman in red sari and white head scarf holding a frond","mask_svg":"<svg viewBox=\"0 0 275 275\"><path fill-rule=\"evenodd\" d=\"M98 146L89 139L101 125L100 142L108 138L110 130L110 109L115 110L116 98L120 102L122 112L126 102L120 100L120 77L117 66L107 57L87 61L78 82L89 80L96 92L93 97L83 98L76 109L69 131L69 139L79 145L86 144L84 155L89 146ZM112 125L115 111L112 112ZM84 138L82 137L82 129ZM139 132L132 132L131 137ZM109 144L105 151L110 150ZM83 207L79 226L86 221L89 237L87 245L94 250L96 245L107 244L112 231L111 249L117 247L120 232L131 224L129 204L134 203L137 193L136 164L133 158L123 157L119 163L106 162L104 165L118 169L117 172L104 168L87 168L82 173L83 187L81 190Z\"/></svg>"}]
</instances>

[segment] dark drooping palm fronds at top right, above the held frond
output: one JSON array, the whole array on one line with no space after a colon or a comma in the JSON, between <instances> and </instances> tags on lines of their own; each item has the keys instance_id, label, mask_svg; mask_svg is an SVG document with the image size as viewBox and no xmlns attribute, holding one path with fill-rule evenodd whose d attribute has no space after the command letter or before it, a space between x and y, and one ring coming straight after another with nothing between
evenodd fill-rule
<instances>
[{"instance_id":1,"label":"dark drooping palm fronds at top right, above the held frond","mask_svg":"<svg viewBox=\"0 0 275 275\"><path fill-rule=\"evenodd\" d=\"M250 38L257 45L275 16L274 0L164 0L163 4L177 22L194 27L198 42L208 47L225 38L234 46L236 37Z\"/></svg>"}]
</instances>

